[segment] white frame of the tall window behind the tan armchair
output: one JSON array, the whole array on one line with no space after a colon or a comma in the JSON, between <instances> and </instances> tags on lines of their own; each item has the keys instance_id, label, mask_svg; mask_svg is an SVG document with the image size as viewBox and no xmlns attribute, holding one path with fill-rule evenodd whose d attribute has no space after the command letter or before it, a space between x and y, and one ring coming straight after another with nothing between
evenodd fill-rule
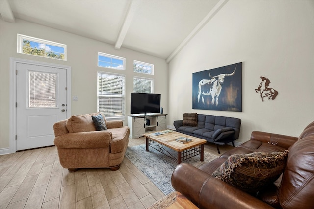
<instances>
[{"instance_id":1,"label":"white frame of the tall window behind the tan armchair","mask_svg":"<svg viewBox=\"0 0 314 209\"><path fill-rule=\"evenodd\" d=\"M99 95L99 74L104 74L108 76L119 76L124 78L124 86L123 86L123 95L118 96L118 95ZM126 76L123 74L115 74L115 73L108 73L104 71L98 71L97 72L97 111L100 111L99 108L99 98L100 97L111 97L111 98L122 98L122 115L117 115L117 116L106 116L106 119L121 119L125 120L126 118Z\"/></svg>"}]
</instances>

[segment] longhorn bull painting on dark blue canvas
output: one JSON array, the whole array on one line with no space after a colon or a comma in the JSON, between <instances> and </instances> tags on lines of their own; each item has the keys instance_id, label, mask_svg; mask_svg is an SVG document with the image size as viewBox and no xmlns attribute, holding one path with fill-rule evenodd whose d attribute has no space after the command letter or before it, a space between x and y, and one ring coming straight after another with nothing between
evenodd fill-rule
<instances>
[{"instance_id":1,"label":"longhorn bull painting on dark blue canvas","mask_svg":"<svg viewBox=\"0 0 314 209\"><path fill-rule=\"evenodd\" d=\"M242 111L242 63L193 73L193 109Z\"/></svg>"}]
</instances>

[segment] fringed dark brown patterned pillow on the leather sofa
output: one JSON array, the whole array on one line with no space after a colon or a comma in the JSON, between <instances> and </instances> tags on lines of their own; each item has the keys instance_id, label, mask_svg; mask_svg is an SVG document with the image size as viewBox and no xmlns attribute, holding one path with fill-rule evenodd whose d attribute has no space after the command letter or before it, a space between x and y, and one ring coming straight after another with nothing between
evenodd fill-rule
<instances>
[{"instance_id":1,"label":"fringed dark brown patterned pillow on the leather sofa","mask_svg":"<svg viewBox=\"0 0 314 209\"><path fill-rule=\"evenodd\" d=\"M278 179L285 169L288 150L231 155L213 176L243 191L254 193Z\"/></svg>"}]
</instances>

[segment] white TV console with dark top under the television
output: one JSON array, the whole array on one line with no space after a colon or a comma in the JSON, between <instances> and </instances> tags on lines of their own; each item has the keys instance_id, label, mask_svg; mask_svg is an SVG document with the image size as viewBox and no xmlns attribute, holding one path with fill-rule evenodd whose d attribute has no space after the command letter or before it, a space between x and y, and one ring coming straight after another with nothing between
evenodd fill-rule
<instances>
[{"instance_id":1,"label":"white TV console with dark top under the television","mask_svg":"<svg viewBox=\"0 0 314 209\"><path fill-rule=\"evenodd\" d=\"M167 128L167 114L135 114L128 116L128 126L130 128L130 138L142 137L148 131L161 131ZM149 125L146 120L149 120Z\"/></svg>"}]
</instances>

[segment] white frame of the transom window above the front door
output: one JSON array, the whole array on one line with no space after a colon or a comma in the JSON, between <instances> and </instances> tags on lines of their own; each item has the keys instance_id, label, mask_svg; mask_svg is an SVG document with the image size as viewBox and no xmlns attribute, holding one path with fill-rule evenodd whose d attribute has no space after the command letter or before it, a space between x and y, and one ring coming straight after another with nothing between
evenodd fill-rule
<instances>
[{"instance_id":1,"label":"white frame of the transom window above the front door","mask_svg":"<svg viewBox=\"0 0 314 209\"><path fill-rule=\"evenodd\" d=\"M55 60L64 60L64 61L67 60L67 45L66 44L61 44L61 43L52 42L52 41L45 40L45 39L26 36L26 35L19 34L19 33L17 34L17 42L18 42L17 43L17 53L25 54L25 53L23 53L23 40L24 39L27 41L33 41L33 42L37 42L37 43L41 43L41 44L45 44L45 45L48 44L48 45L64 48L64 59L56 59L53 57L47 57L46 53L45 53L45 56L38 56L38 55L34 55L34 54L27 54L27 55L32 55L32 56L37 56L37 57L45 57L45 58L50 58L50 59L55 59ZM45 52L46 52L46 49L45 49Z\"/></svg>"}]
</instances>

